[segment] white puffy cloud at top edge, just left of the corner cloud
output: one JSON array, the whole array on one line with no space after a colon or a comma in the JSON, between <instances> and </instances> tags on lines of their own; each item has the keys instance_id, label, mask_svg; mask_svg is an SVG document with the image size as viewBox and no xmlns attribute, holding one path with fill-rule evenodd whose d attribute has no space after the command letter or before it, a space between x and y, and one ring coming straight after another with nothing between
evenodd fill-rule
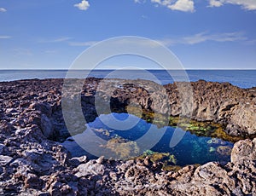
<instances>
[{"instance_id":1,"label":"white puffy cloud at top edge, just left of the corner cloud","mask_svg":"<svg viewBox=\"0 0 256 196\"><path fill-rule=\"evenodd\" d=\"M162 6L166 6L168 9L178 10L183 12L194 12L193 0L177 0L173 3L173 0L151 0L152 3L157 3Z\"/></svg>"}]
</instances>

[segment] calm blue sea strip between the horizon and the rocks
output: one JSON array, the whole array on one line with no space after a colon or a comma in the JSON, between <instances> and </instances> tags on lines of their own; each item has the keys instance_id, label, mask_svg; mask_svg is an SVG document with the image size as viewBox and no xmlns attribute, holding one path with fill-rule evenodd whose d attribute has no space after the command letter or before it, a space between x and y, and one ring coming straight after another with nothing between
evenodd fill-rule
<instances>
[{"instance_id":1,"label":"calm blue sea strip between the horizon and the rocks","mask_svg":"<svg viewBox=\"0 0 256 196\"><path fill-rule=\"evenodd\" d=\"M173 83L172 77L165 70L148 70L154 75L160 84ZM85 71L90 77L96 78L125 78L125 79L148 79L152 76L147 71L140 70L93 70ZM178 77L183 71L171 71L172 76ZM229 82L241 88L252 88L256 86L256 70L187 70L189 81L195 82L204 79L212 82ZM73 77L84 78L84 71L71 71ZM108 75L110 73L110 75ZM65 78L67 70L0 70L0 82L20 79L44 79L44 78ZM78 77L79 76L79 77Z\"/></svg>"}]
</instances>

